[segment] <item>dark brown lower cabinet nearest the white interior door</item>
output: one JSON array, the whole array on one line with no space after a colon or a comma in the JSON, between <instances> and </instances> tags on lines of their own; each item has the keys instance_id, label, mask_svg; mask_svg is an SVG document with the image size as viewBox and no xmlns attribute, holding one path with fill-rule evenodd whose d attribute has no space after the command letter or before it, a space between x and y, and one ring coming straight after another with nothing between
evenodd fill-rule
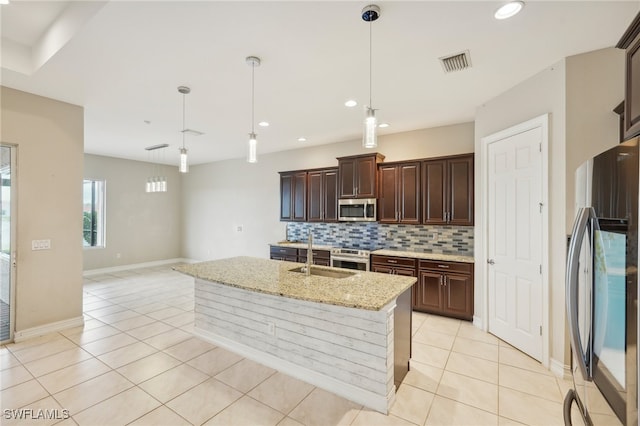
<instances>
[{"instance_id":1,"label":"dark brown lower cabinet nearest the white interior door","mask_svg":"<svg viewBox=\"0 0 640 426\"><path fill-rule=\"evenodd\" d=\"M414 288L415 310L473 319L473 264L421 260Z\"/></svg>"}]
</instances>

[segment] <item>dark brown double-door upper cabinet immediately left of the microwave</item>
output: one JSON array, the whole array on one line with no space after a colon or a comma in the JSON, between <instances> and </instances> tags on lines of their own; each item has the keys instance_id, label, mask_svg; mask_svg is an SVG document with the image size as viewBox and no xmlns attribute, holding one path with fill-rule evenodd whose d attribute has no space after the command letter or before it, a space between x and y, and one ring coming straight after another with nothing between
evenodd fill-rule
<instances>
[{"instance_id":1,"label":"dark brown double-door upper cabinet immediately left of the microwave","mask_svg":"<svg viewBox=\"0 0 640 426\"><path fill-rule=\"evenodd\" d=\"M336 222L338 220L338 169L311 170L307 174L309 185L307 220L309 222Z\"/></svg>"}]
</instances>

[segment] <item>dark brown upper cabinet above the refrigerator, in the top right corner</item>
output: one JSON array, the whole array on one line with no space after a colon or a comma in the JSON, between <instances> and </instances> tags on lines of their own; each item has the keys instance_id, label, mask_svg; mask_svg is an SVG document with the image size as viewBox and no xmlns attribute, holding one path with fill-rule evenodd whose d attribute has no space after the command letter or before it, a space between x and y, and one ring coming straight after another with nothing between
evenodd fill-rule
<instances>
[{"instance_id":1,"label":"dark brown upper cabinet above the refrigerator, in the top right corner","mask_svg":"<svg viewBox=\"0 0 640 426\"><path fill-rule=\"evenodd\" d=\"M624 139L640 135L640 13L616 45L626 50Z\"/></svg>"}]
</instances>

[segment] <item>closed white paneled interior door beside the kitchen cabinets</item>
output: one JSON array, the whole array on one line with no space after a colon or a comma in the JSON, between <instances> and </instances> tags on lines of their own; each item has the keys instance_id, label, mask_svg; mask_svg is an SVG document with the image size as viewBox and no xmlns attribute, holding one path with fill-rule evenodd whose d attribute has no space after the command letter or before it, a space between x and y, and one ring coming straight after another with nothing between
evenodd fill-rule
<instances>
[{"instance_id":1,"label":"closed white paneled interior door beside the kitchen cabinets","mask_svg":"<svg viewBox=\"0 0 640 426\"><path fill-rule=\"evenodd\" d=\"M487 149L489 332L542 361L542 128Z\"/></svg>"}]
</instances>

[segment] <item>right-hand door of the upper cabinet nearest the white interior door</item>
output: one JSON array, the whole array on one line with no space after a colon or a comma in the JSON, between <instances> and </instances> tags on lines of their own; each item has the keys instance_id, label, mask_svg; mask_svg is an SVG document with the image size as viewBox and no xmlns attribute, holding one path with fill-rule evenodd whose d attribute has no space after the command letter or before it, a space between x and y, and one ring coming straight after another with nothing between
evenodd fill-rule
<instances>
[{"instance_id":1,"label":"right-hand door of the upper cabinet nearest the white interior door","mask_svg":"<svg viewBox=\"0 0 640 426\"><path fill-rule=\"evenodd\" d=\"M473 225L473 156L449 160L449 216L451 225Z\"/></svg>"}]
</instances>

